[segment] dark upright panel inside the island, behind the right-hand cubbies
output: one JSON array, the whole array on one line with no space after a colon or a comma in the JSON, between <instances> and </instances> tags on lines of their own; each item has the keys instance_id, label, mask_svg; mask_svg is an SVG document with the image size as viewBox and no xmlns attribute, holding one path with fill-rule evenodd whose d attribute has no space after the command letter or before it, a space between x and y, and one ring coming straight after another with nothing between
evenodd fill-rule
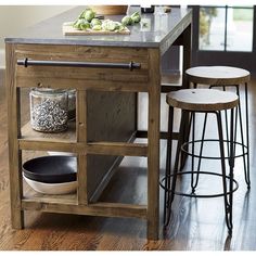
<instances>
[{"instance_id":1,"label":"dark upright panel inside the island, behind the right-hand cubbies","mask_svg":"<svg viewBox=\"0 0 256 256\"><path fill-rule=\"evenodd\" d=\"M136 100L133 92L88 91L88 142L130 140L136 131ZM87 155L88 199L107 184L115 171L112 167L118 159L121 156Z\"/></svg>"}]
</instances>

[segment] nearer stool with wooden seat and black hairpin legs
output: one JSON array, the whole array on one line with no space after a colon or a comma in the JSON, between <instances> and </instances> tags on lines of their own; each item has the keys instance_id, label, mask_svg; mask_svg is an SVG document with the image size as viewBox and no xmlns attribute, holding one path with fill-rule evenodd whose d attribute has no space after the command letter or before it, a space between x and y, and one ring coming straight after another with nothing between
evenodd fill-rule
<instances>
[{"instance_id":1,"label":"nearer stool with wooden seat and black hairpin legs","mask_svg":"<svg viewBox=\"0 0 256 256\"><path fill-rule=\"evenodd\" d=\"M166 158L166 172L165 177L161 180L161 187L165 190L164 197L164 225L168 226L170 220L171 213L171 204L175 197L175 194L190 196L190 197L217 197L223 196L225 199L225 213L226 213L226 223L229 230L229 233L232 233L232 205L233 205L233 192L238 190L239 184L233 178L233 167L234 167L234 108L239 105L239 97L232 92L226 92L214 89L184 89L179 91L174 91L167 94L166 101L169 104L169 120L168 120L168 140L167 140L167 158ZM181 108L181 121L179 129L179 138L177 144L177 152L175 158L175 167L172 174L170 172L171 167L171 144L172 144L172 125L174 125L174 108ZM225 155L225 139L222 132L222 121L221 121L221 112L230 110L230 138L229 138L229 155L228 157ZM218 126L218 140L208 140L208 141L217 141L219 144L220 157L213 157L215 159L220 159L221 162L221 174L213 172L213 171L201 171L200 168L194 170L194 157L199 158L199 162L203 158L202 156L202 145L204 143L204 133L202 135L202 140L194 140L194 119L195 113L213 113L217 118ZM187 124L188 114L191 115L189 130L192 133L192 141L184 142L183 141L183 131ZM207 118L204 119L204 127L206 126ZM205 128L204 128L205 129ZM189 132L189 133L190 133ZM184 142L184 143L183 143ZM196 155L194 153L194 144L195 142L201 142L200 154ZM188 143L192 143L192 152L188 152L184 145ZM191 171L178 171L180 153L183 151L185 154L189 154L192 157L192 169ZM226 159L229 159L229 175L226 174ZM200 165L200 163L199 163ZM220 177L222 180L222 193L216 194L195 194L195 188L199 182L199 175L212 175L215 177ZM182 175L191 175L191 188L192 192L190 194L177 192L176 191L176 181L177 176ZM196 176L194 181L194 175ZM172 177L172 180L171 180ZM171 182L170 182L171 181ZM229 181L229 182L227 182Z\"/></svg>"}]
</instances>

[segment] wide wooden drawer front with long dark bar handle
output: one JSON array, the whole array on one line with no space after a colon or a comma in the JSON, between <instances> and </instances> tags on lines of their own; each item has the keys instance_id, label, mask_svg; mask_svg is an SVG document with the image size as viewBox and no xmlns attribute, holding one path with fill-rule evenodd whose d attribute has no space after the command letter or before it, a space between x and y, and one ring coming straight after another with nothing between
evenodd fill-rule
<instances>
[{"instance_id":1,"label":"wide wooden drawer front with long dark bar handle","mask_svg":"<svg viewBox=\"0 0 256 256\"><path fill-rule=\"evenodd\" d=\"M17 87L49 87L104 89L115 85L142 86L149 81L149 54L146 49L82 47L82 46L43 46L17 44L16 60L51 62L88 62L88 63L139 63L140 68L130 71L119 67L75 67L16 64ZM126 82L124 85L124 81Z\"/></svg>"}]
</instances>

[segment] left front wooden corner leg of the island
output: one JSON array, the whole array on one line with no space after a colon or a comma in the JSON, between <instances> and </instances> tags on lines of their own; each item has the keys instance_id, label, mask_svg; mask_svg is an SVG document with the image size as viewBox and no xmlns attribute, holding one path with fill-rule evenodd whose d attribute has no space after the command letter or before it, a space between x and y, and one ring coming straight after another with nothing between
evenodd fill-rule
<instances>
[{"instance_id":1,"label":"left front wooden corner leg of the island","mask_svg":"<svg viewBox=\"0 0 256 256\"><path fill-rule=\"evenodd\" d=\"M22 210L23 178L22 153L18 150L17 139L21 138L20 88L15 84L14 46L7 43L7 101L8 101L8 139L9 139L9 169L12 227L24 227L24 212Z\"/></svg>"}]
</instances>

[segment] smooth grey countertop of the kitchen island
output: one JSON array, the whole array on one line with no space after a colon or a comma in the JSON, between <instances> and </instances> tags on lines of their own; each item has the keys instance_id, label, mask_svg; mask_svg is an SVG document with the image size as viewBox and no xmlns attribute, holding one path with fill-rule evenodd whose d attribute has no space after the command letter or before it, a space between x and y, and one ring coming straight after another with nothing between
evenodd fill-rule
<instances>
[{"instance_id":1,"label":"smooth grey countertop of the kitchen island","mask_svg":"<svg viewBox=\"0 0 256 256\"><path fill-rule=\"evenodd\" d=\"M75 21L84 9L85 7L77 7L38 23L24 29L21 34L7 37L5 42L161 48L166 42L171 43L192 20L190 9L172 8L168 14L142 14L148 26L144 28L141 28L140 24L129 26L130 35L63 36L62 24ZM123 16L105 15L105 18L120 22ZM172 41L171 38L174 38Z\"/></svg>"}]
</instances>

